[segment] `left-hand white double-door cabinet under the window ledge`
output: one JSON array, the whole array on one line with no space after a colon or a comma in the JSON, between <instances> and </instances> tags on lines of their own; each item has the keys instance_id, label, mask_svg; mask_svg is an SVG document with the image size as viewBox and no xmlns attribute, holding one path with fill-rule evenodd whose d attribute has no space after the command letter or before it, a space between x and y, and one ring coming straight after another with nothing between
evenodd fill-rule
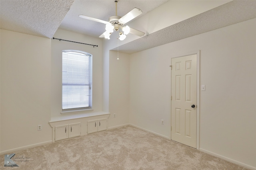
<instances>
[{"instance_id":1,"label":"left-hand white double-door cabinet under the window ledge","mask_svg":"<svg viewBox=\"0 0 256 170\"><path fill-rule=\"evenodd\" d=\"M80 136L80 123L55 127L55 141Z\"/></svg>"}]
</instances>

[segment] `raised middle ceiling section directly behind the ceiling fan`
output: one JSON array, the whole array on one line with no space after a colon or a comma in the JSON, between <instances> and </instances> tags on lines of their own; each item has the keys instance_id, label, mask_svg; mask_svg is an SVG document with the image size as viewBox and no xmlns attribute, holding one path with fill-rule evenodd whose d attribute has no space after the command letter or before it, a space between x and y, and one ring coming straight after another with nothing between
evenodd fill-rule
<instances>
[{"instance_id":1,"label":"raised middle ceiling section directly behind the ceiling fan","mask_svg":"<svg viewBox=\"0 0 256 170\"><path fill-rule=\"evenodd\" d=\"M143 12L137 17L140 18L165 2L167 0L118 0L117 15L122 17L136 7ZM114 0L75 0L60 25L61 29L99 37L106 31L105 24L80 18L80 14L108 21L110 16L116 15L116 3Z\"/></svg>"}]
</instances>

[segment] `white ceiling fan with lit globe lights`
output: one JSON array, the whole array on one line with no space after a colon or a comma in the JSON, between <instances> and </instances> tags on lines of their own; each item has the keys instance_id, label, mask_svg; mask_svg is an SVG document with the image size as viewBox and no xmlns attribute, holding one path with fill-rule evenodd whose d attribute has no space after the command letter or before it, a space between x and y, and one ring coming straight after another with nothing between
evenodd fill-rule
<instances>
[{"instance_id":1,"label":"white ceiling fan with lit globe lights","mask_svg":"<svg viewBox=\"0 0 256 170\"><path fill-rule=\"evenodd\" d=\"M128 25L123 26L125 23L133 20L134 18L136 18L137 16L142 14L142 11L138 8L134 8L133 10L128 12L123 17L117 16L117 2L118 1L116 0L115 1L115 3L116 3L116 16L111 16L108 19L108 21L99 20L99 19L96 19L96 18L84 16L84 15L79 15L79 17L87 19L87 20L92 20L92 21L96 21L96 22L100 22L100 23L105 23L106 24L106 31L102 35L100 35L100 38L105 37L106 39L110 39L110 35L114 31L119 32L119 35L120 35L119 39L121 41L126 38L126 35L128 33L132 33L132 34L138 35L140 37L145 35L144 32L138 31L137 29L130 28ZM120 29L122 29L122 31Z\"/></svg>"}]
</instances>

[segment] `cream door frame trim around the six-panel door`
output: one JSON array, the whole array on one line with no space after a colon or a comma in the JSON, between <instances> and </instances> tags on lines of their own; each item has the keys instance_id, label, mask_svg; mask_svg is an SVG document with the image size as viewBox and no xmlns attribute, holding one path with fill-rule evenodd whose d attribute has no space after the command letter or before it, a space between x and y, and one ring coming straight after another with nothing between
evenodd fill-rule
<instances>
[{"instance_id":1,"label":"cream door frame trim around the six-panel door","mask_svg":"<svg viewBox=\"0 0 256 170\"><path fill-rule=\"evenodd\" d=\"M182 55L174 55L171 57L171 65L172 59L178 57L184 57L187 55L196 54L196 149L199 150L199 141L200 141L200 50L188 53L182 53ZM172 79L172 77L171 77ZM172 80L171 80L172 82ZM171 84L171 93L172 93L172 84ZM172 95L172 94L171 94ZM172 102L172 101L171 101ZM171 111L172 114L172 111ZM171 117L171 116L170 116ZM172 118L171 118L172 119ZM170 120L170 123L172 121ZM171 123L172 126L172 123ZM170 138L172 139L172 132L170 131Z\"/></svg>"}]
</instances>

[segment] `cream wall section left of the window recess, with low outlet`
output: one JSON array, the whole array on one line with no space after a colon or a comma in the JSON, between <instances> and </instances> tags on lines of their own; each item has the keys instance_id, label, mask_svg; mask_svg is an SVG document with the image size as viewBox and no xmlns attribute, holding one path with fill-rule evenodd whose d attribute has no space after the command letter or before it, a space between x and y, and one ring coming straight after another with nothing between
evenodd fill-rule
<instances>
[{"instance_id":1,"label":"cream wall section left of the window recess, with low outlet","mask_svg":"<svg viewBox=\"0 0 256 170\"><path fill-rule=\"evenodd\" d=\"M0 51L1 151L51 142L51 40L1 29Z\"/></svg>"}]
</instances>

